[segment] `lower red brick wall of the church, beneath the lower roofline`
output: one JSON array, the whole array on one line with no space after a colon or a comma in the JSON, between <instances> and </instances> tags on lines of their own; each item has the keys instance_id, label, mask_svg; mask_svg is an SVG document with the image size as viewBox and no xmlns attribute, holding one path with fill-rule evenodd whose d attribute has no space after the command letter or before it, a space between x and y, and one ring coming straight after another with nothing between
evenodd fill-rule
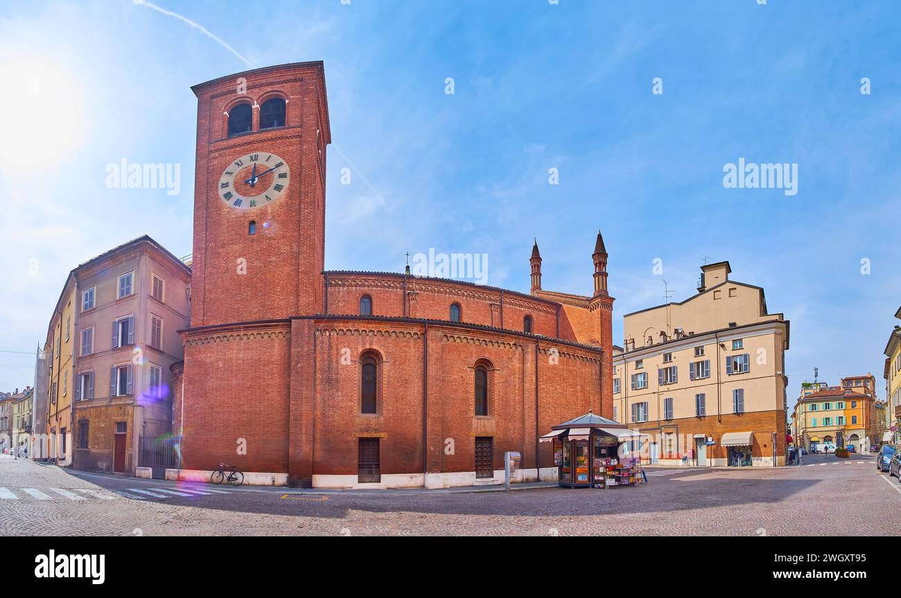
<instances>
[{"instance_id":1,"label":"lower red brick wall of the church, beneath the lower roofline","mask_svg":"<svg viewBox=\"0 0 901 598\"><path fill-rule=\"evenodd\" d=\"M314 474L356 475L358 439L376 437L383 474L422 473L423 458L429 472L473 471L478 436L495 439L496 468L506 450L522 452L523 467L531 468L538 436L600 408L597 351L521 335L434 322L426 332L425 322L359 318L297 318L184 335L187 469L225 461L248 472L287 471L308 484ZM380 361L377 415L359 412L364 351ZM477 360L491 366L487 417L475 415ZM247 439L247 456L235 453L239 438ZM543 449L542 467L551 467Z\"/></svg>"}]
</instances>

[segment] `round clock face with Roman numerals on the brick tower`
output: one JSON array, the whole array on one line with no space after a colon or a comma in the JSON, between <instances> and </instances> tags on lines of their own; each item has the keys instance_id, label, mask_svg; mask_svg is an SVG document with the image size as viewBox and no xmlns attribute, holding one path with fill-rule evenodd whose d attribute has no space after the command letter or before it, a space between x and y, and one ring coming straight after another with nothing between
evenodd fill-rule
<instances>
[{"instance_id":1,"label":"round clock face with Roman numerals on the brick tower","mask_svg":"<svg viewBox=\"0 0 901 598\"><path fill-rule=\"evenodd\" d=\"M265 151L247 154L229 164L219 179L219 197L236 210L276 201L287 191L291 169L285 160Z\"/></svg>"}]
</instances>

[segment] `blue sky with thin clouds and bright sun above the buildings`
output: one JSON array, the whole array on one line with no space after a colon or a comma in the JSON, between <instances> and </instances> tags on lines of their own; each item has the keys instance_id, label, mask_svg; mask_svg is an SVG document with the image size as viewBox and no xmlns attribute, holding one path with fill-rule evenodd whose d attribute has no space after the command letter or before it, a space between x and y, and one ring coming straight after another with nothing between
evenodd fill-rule
<instances>
[{"instance_id":1,"label":"blue sky with thin clouds and bright sun above the buildings","mask_svg":"<svg viewBox=\"0 0 901 598\"><path fill-rule=\"evenodd\" d=\"M790 403L814 367L832 384L873 372L884 398L901 304L896 3L155 5L209 34L131 1L0 9L0 350L42 342L78 263L145 233L191 252L189 86L323 59L326 267L487 253L489 284L528 292L537 236L544 287L590 294L600 228L615 342L624 313L662 303L662 279L681 301L701 256L728 259L791 321ZM797 195L724 188L742 157L797 163ZM121 159L180 165L180 194L107 188ZM0 353L0 388L32 372L32 355Z\"/></svg>"}]
</instances>

